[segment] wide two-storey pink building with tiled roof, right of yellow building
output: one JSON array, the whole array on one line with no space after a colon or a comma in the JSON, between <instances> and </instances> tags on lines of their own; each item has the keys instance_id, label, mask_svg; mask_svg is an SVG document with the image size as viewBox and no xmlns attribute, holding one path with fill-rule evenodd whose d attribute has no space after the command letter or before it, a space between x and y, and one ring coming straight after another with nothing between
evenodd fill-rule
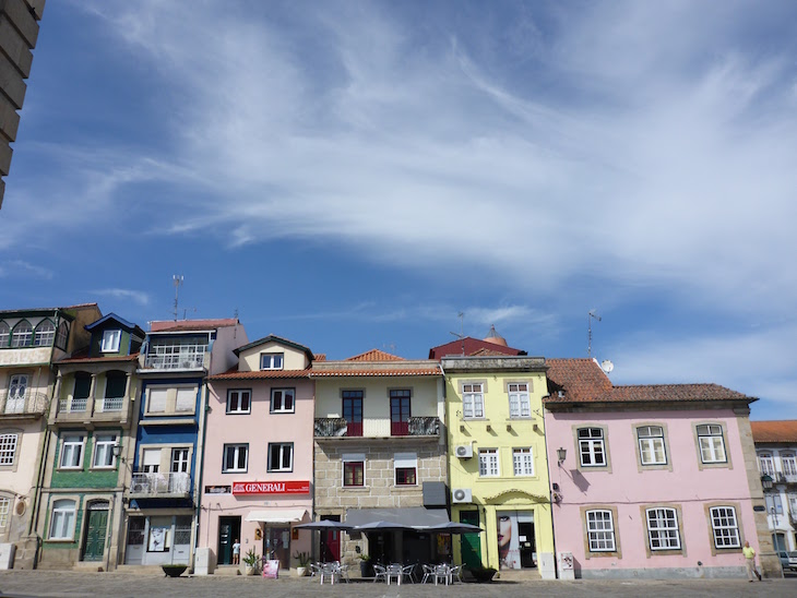
<instances>
[{"instance_id":1,"label":"wide two-storey pink building with tiled roof, right of yellow building","mask_svg":"<svg viewBox=\"0 0 797 598\"><path fill-rule=\"evenodd\" d=\"M590 359L548 366L560 577L742 577L746 541L781 575L751 458L754 398L715 384L614 386Z\"/></svg>"}]
</instances>

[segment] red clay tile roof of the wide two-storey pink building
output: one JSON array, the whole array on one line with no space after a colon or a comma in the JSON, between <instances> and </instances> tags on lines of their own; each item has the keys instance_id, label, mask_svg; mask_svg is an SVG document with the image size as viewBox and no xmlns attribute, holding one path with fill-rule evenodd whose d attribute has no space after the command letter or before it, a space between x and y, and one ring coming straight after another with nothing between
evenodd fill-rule
<instances>
[{"instance_id":1,"label":"red clay tile roof of the wide two-storey pink building","mask_svg":"<svg viewBox=\"0 0 797 598\"><path fill-rule=\"evenodd\" d=\"M718 384L639 384L615 386L594 359L547 359L552 382L546 404L662 403L689 400L757 400ZM559 396L558 391L564 391Z\"/></svg>"}]
</instances>

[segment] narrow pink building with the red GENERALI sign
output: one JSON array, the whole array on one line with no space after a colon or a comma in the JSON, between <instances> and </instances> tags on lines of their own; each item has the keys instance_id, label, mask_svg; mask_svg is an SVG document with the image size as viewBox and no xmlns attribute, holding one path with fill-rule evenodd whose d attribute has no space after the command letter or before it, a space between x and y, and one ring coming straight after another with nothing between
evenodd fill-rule
<instances>
[{"instance_id":1,"label":"narrow pink building with the red GENERALI sign","mask_svg":"<svg viewBox=\"0 0 797 598\"><path fill-rule=\"evenodd\" d=\"M199 546L218 566L249 550L297 566L312 517L313 355L267 336L239 349L238 367L211 378Z\"/></svg>"}]
</instances>

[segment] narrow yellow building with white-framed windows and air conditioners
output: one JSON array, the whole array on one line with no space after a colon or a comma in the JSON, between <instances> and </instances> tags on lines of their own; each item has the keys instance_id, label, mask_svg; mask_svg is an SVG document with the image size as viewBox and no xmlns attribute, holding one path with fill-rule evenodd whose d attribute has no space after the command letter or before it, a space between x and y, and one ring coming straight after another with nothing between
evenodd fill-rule
<instances>
[{"instance_id":1,"label":"narrow yellow building with white-framed windows and air conditioners","mask_svg":"<svg viewBox=\"0 0 797 598\"><path fill-rule=\"evenodd\" d=\"M545 448L545 359L444 357L451 519L481 534L454 540L474 567L536 570L556 578Z\"/></svg>"}]
</instances>

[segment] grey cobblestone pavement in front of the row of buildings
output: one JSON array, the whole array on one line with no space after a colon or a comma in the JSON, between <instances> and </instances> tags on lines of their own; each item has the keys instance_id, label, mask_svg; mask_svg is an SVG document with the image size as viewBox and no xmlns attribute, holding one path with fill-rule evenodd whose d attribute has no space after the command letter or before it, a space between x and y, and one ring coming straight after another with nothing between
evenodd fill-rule
<instances>
[{"instance_id":1,"label":"grey cobblestone pavement in front of the row of buildings","mask_svg":"<svg viewBox=\"0 0 797 598\"><path fill-rule=\"evenodd\" d=\"M450 596L511 598L528 596L705 596L733 598L736 596L797 596L797 579L773 579L763 583L747 581L703 579L683 582L507 582L491 584L457 584L456 586L413 585L385 586L370 582L323 585L310 578L263 579L261 577L178 577L138 573L81 573L51 571L0 572L0 594L17 597L78 597L78 596L148 596L190 597L225 596L246 598L294 597L415 597Z\"/></svg>"}]
</instances>

